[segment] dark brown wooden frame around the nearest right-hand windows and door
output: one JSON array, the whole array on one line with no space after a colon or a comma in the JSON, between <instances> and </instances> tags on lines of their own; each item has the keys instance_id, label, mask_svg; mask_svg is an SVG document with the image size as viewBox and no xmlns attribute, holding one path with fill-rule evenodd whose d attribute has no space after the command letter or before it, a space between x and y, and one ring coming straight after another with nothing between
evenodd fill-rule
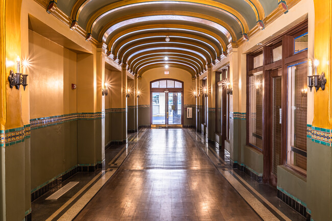
<instances>
[{"instance_id":1,"label":"dark brown wooden frame around the nearest right-hand windows and door","mask_svg":"<svg viewBox=\"0 0 332 221\"><path fill-rule=\"evenodd\" d=\"M292 28L291 30L284 32L258 47L252 53L247 54L247 115L246 115L246 127L247 127L247 135L246 135L246 144L255 148L253 145L249 143L249 77L253 75L253 73L258 71L263 71L263 155L264 155L264 171L270 171L271 166L271 148L268 148L270 145L270 126L271 119L269 116L269 105L270 105L270 97L269 97L269 85L270 85L270 76L269 73L273 69L281 68L281 91L282 91L282 99L281 99L281 162L282 165L289 167L290 169L296 171L296 173L300 174L303 177L306 177L306 171L295 168L293 165L287 164L287 119L288 119L288 109L287 109L287 93L288 93L288 84L287 84L287 67L307 60L307 50L304 50L299 53L294 53L294 38L300 36L308 32L307 30L308 22L307 20L302 21L298 24L297 27ZM282 59L276 62L273 61L272 50L275 47L282 45ZM253 68L253 58L260 53L263 53L263 66ZM255 148L256 149L256 148ZM256 149L257 150L257 149ZM268 173L263 174L263 182L268 183L270 181L270 177ZM276 183L273 183L276 185Z\"/></svg>"}]
</instances>

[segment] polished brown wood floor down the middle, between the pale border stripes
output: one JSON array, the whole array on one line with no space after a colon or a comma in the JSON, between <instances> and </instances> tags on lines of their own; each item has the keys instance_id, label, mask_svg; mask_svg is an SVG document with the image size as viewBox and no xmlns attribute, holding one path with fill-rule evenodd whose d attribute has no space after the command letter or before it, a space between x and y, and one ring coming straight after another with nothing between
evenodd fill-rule
<instances>
[{"instance_id":1,"label":"polished brown wood floor down the middle, between the pale border stripes","mask_svg":"<svg viewBox=\"0 0 332 221\"><path fill-rule=\"evenodd\" d=\"M261 220L183 129L149 129L75 220Z\"/></svg>"}]
</instances>

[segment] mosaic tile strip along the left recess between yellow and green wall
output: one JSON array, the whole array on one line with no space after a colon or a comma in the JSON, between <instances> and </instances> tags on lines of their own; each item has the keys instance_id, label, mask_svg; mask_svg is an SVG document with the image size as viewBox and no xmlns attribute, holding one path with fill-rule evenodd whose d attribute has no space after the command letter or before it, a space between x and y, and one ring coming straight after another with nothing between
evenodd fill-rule
<instances>
[{"instance_id":1,"label":"mosaic tile strip along the left recess between yellow and green wall","mask_svg":"<svg viewBox=\"0 0 332 221\"><path fill-rule=\"evenodd\" d=\"M32 130L52 126L57 124L62 124L63 122L78 120L78 119L100 119L103 117L101 112L97 113L74 113L74 114L64 114L59 116L41 117L30 119L30 127ZM105 115L104 115L105 117Z\"/></svg>"}]
</instances>

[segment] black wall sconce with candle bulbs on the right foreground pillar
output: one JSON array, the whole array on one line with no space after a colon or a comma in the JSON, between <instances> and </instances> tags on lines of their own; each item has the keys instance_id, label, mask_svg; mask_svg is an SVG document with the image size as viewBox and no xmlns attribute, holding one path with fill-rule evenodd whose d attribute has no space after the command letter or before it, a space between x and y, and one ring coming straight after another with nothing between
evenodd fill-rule
<instances>
[{"instance_id":1,"label":"black wall sconce with candle bulbs on the right foreground pillar","mask_svg":"<svg viewBox=\"0 0 332 221\"><path fill-rule=\"evenodd\" d=\"M325 90L325 84L326 84L326 78L325 78L325 72L323 71L321 75L317 74L317 67L319 65L319 61L314 61L314 68L315 68L315 75L312 75L313 69L312 69L312 61L309 59L308 62L309 65L309 72L308 72L308 87L310 88L310 91L312 91L312 88L316 88L316 92L319 88L322 88L322 90Z\"/></svg>"}]
</instances>

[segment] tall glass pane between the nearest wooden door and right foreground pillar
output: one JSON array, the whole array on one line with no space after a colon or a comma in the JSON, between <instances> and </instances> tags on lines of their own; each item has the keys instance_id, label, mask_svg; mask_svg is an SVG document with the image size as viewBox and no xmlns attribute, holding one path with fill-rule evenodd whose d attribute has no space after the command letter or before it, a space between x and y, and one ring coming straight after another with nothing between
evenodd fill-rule
<instances>
[{"instance_id":1,"label":"tall glass pane between the nearest wooden door and right foreground pillar","mask_svg":"<svg viewBox=\"0 0 332 221\"><path fill-rule=\"evenodd\" d=\"M287 161L306 170L306 157L291 151L292 147L306 152L307 64L288 67L288 155Z\"/></svg>"}]
</instances>

